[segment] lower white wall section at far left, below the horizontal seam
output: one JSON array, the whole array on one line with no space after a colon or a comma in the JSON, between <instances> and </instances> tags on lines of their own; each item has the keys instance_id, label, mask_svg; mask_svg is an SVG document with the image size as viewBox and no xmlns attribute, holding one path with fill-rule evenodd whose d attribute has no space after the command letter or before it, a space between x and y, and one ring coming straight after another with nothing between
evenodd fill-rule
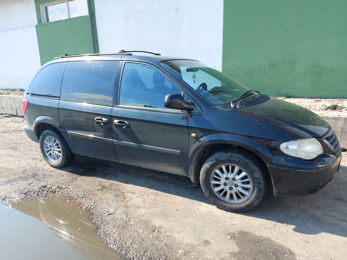
<instances>
[{"instance_id":1,"label":"lower white wall section at far left, below the horizontal seam","mask_svg":"<svg viewBox=\"0 0 347 260\"><path fill-rule=\"evenodd\" d=\"M0 89L26 88L41 67L35 26L0 32Z\"/></svg>"}]
</instances>

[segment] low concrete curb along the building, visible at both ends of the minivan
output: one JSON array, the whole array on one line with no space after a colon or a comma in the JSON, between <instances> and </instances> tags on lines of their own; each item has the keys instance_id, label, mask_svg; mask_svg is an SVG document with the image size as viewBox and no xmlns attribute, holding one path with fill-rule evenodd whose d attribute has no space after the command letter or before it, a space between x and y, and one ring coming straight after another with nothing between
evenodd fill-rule
<instances>
[{"instance_id":1,"label":"low concrete curb along the building, visible at both ends of the minivan","mask_svg":"<svg viewBox=\"0 0 347 260\"><path fill-rule=\"evenodd\" d=\"M0 95L0 114L23 116L22 96ZM341 148L347 148L347 117L346 116L322 116L331 125Z\"/></svg>"}]
</instances>

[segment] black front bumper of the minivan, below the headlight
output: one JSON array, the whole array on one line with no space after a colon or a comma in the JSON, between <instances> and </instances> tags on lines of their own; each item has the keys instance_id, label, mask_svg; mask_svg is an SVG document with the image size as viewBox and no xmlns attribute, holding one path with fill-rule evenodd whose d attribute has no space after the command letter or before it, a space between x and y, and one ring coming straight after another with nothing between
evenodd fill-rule
<instances>
[{"instance_id":1,"label":"black front bumper of the minivan, below the headlight","mask_svg":"<svg viewBox=\"0 0 347 260\"><path fill-rule=\"evenodd\" d=\"M269 165L275 196L305 196L327 185L338 172L342 156L328 165L303 169Z\"/></svg>"}]
</instances>

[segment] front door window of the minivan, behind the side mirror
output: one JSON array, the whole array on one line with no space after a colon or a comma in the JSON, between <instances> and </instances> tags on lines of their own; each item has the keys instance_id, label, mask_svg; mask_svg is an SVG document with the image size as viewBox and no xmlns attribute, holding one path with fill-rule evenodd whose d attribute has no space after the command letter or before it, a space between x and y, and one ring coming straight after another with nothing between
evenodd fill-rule
<instances>
[{"instance_id":1,"label":"front door window of the minivan, behind the side mirror","mask_svg":"<svg viewBox=\"0 0 347 260\"><path fill-rule=\"evenodd\" d=\"M120 83L119 104L141 107L164 107L165 96L182 91L151 66L127 62Z\"/></svg>"}]
</instances>

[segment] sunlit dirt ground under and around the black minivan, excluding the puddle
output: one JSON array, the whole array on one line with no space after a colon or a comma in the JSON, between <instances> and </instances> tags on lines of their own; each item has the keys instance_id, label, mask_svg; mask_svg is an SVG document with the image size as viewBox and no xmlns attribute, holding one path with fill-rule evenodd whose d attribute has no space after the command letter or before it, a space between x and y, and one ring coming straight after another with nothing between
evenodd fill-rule
<instances>
[{"instance_id":1,"label":"sunlit dirt ground under and around the black minivan, excluding the puddle","mask_svg":"<svg viewBox=\"0 0 347 260\"><path fill-rule=\"evenodd\" d=\"M200 187L188 188L187 177L83 156L51 168L23 125L22 118L0 119L0 201L50 189L73 196L126 259L346 259L346 153L318 194L269 193L257 209L235 214L211 205Z\"/></svg>"}]
</instances>

